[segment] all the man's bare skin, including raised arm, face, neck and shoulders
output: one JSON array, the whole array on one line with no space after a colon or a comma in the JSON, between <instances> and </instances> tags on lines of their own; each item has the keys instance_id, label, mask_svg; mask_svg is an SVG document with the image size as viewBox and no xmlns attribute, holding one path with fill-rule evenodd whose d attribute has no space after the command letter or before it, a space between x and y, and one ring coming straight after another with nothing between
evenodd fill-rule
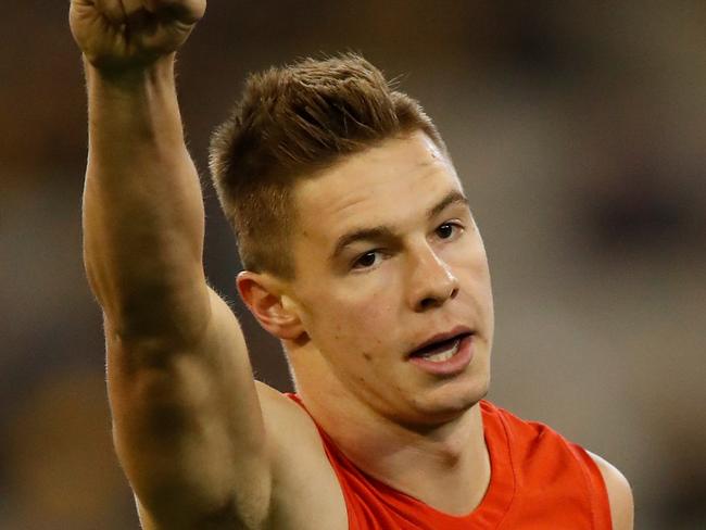
<instances>
[{"instance_id":1,"label":"all the man's bare skin, including raised arm, face, neck and shoulders","mask_svg":"<svg viewBox=\"0 0 706 530\"><path fill-rule=\"evenodd\" d=\"M89 110L84 257L103 310L116 451L146 529L343 530L316 426L254 381L238 321L203 273L203 202L174 55L204 10L203 0L71 3ZM294 190L295 279L245 272L238 289L343 452L464 514L490 478L477 403L493 320L468 207L427 213L450 192L463 193L451 163L419 132L350 156ZM379 226L384 238L329 258L344 234ZM439 378L405 359L458 325L476 333L463 373ZM631 528L629 487L601 465L615 528Z\"/></svg>"}]
</instances>

